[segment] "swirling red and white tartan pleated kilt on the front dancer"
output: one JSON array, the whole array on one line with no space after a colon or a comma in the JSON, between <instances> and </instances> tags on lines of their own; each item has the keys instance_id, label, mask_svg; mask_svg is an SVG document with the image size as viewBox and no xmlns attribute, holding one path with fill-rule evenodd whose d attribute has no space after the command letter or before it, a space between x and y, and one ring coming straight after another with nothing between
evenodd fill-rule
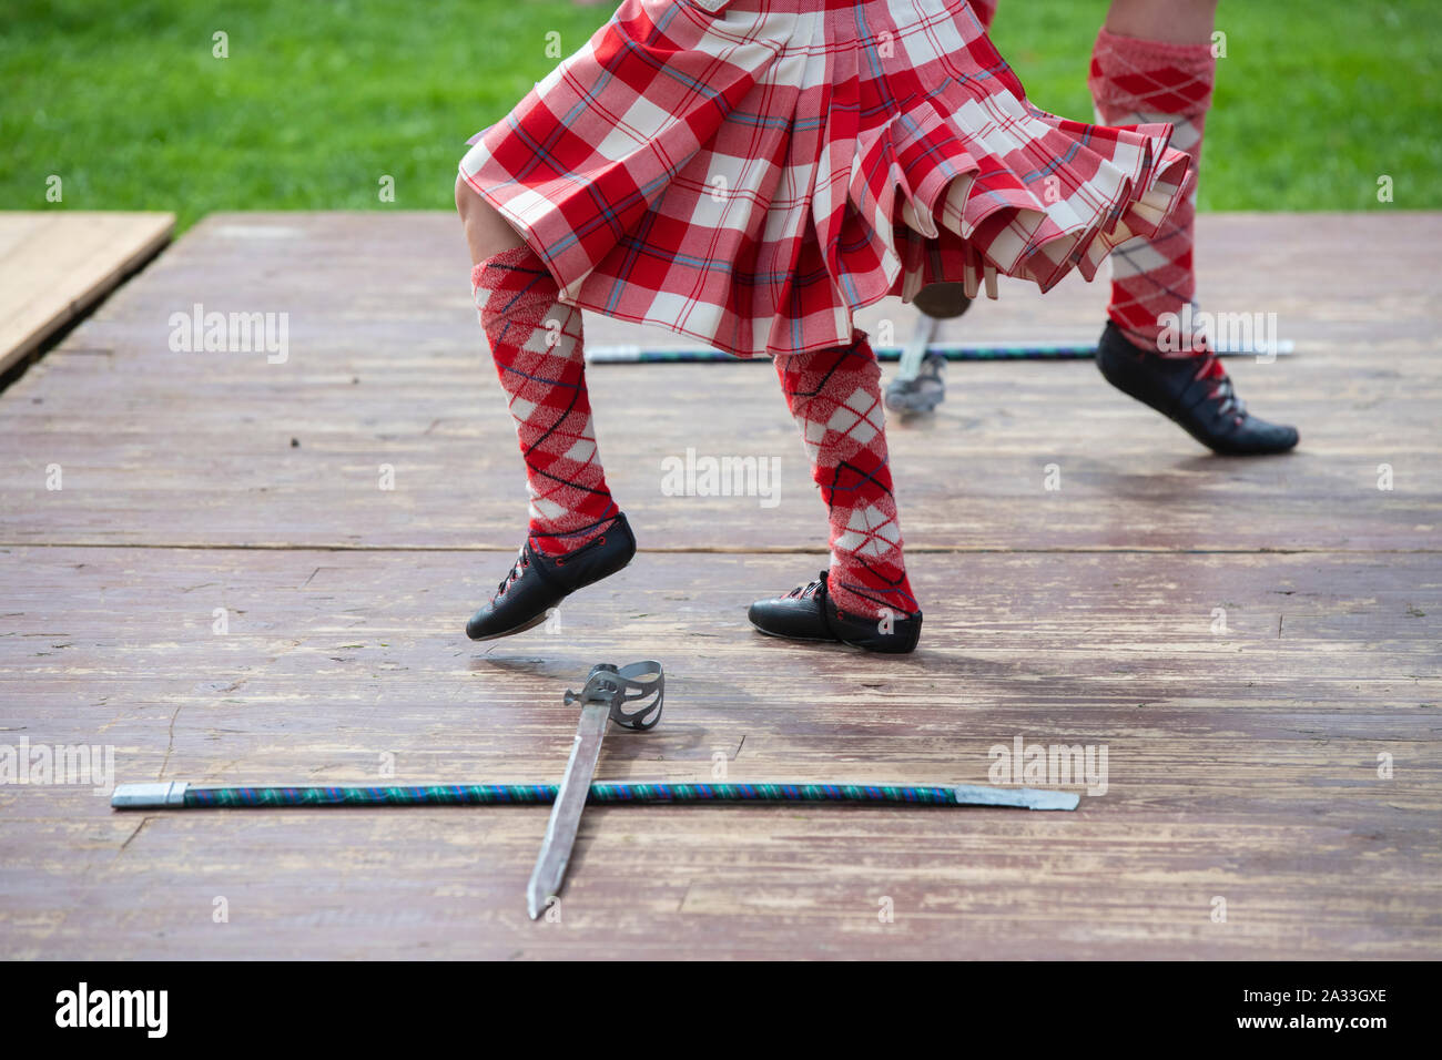
<instances>
[{"instance_id":1,"label":"swirling red and white tartan pleated kilt on the front dancer","mask_svg":"<svg viewBox=\"0 0 1442 1060\"><path fill-rule=\"evenodd\" d=\"M756 356L936 280L1090 280L1180 198L1169 136L1037 110L965 0L624 0L460 172L568 304Z\"/></svg>"}]
</instances>

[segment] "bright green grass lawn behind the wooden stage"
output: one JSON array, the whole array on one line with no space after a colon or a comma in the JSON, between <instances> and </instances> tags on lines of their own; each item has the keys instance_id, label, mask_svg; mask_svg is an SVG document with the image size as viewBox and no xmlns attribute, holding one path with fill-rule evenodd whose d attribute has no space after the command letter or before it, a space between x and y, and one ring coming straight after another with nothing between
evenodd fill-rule
<instances>
[{"instance_id":1,"label":"bright green grass lawn behind the wooden stage","mask_svg":"<svg viewBox=\"0 0 1442 1060\"><path fill-rule=\"evenodd\" d=\"M1090 120L1105 0L1002 0L1032 100ZM568 0L6 0L0 195L10 209L448 208L464 140L609 16ZM1223 0L1204 209L1442 206L1442 4ZM212 58L212 35L229 58ZM45 199L63 180L63 203ZM395 179L395 203L378 182Z\"/></svg>"}]
</instances>

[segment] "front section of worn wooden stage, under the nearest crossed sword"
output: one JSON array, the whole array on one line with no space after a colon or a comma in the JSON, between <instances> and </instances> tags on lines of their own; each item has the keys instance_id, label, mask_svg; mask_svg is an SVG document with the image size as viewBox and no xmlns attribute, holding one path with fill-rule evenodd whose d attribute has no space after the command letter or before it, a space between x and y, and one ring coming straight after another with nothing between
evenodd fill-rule
<instances>
[{"instance_id":1,"label":"front section of worn wooden stage, under the nearest crossed sword","mask_svg":"<svg viewBox=\"0 0 1442 1060\"><path fill-rule=\"evenodd\" d=\"M534 780L561 691L653 655L668 717L601 779L986 782L1015 737L1107 747L1073 815L588 812L531 924L536 809L117 815L0 787L17 956L1436 958L1442 571L1430 554L917 557L923 650L764 640L808 555L645 555L559 630L472 645L505 560L0 554L0 743L101 743L117 780ZM228 632L213 632L213 609ZM1213 609L1227 609L1213 633ZM865 668L858 671L858 662ZM1392 779L1377 754L1393 756ZM213 901L229 923L212 922ZM1213 923L1213 900L1227 900ZM881 923L881 900L894 920ZM104 926L104 930L99 930ZM97 950L97 946L101 949Z\"/></svg>"}]
</instances>

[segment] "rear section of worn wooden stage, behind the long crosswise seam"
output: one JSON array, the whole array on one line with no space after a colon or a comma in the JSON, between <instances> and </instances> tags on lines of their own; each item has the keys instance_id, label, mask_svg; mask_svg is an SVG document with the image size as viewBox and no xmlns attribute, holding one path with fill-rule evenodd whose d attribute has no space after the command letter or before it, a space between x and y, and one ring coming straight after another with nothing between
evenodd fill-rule
<instances>
[{"instance_id":1,"label":"rear section of worn wooden stage, behind the long crosswise seam","mask_svg":"<svg viewBox=\"0 0 1442 1060\"><path fill-rule=\"evenodd\" d=\"M934 420L893 431L907 544L1436 548L1439 239L1432 213L1204 216L1207 304L1275 310L1298 343L1292 359L1230 366L1255 410L1301 425L1301 450L1213 457L1089 363L956 365ZM1347 270L1331 264L1338 245ZM947 337L1094 337L1105 300L1102 283L1045 299L1009 284ZM172 352L167 320L196 303L288 313L286 362ZM208 218L0 404L0 541L512 551L523 482L474 317L450 216ZM904 336L910 310L864 314L872 332L885 320ZM596 342L655 337L587 327ZM591 385L642 548L823 551L769 366L609 366ZM662 460L688 447L779 461L777 503L669 496ZM1377 487L1383 464L1392 490ZM63 492L46 489L52 466ZM394 490L379 489L382 466Z\"/></svg>"}]
</instances>

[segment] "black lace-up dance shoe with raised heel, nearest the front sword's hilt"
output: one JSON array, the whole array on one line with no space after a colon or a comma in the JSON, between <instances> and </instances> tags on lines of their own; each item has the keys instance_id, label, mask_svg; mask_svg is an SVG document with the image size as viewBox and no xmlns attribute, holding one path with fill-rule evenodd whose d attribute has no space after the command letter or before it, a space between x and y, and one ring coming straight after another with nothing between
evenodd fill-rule
<instances>
[{"instance_id":1,"label":"black lace-up dance shoe with raised heel, nearest the front sword's hilt","mask_svg":"<svg viewBox=\"0 0 1442 1060\"><path fill-rule=\"evenodd\" d=\"M510 573L496 588L496 596L466 623L472 640L493 640L539 626L547 614L578 588L585 588L614 574L636 555L636 536L624 515L570 555L542 555L521 547Z\"/></svg>"}]
</instances>

